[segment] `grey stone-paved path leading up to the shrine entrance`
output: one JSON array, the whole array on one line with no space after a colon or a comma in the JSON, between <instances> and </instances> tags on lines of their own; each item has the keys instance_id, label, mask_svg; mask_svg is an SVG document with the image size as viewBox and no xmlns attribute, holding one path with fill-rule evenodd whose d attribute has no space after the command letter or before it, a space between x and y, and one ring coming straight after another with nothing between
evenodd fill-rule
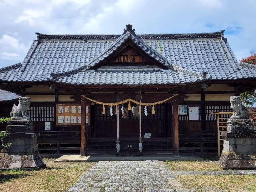
<instances>
[{"instance_id":1,"label":"grey stone-paved path leading up to the shrine entrance","mask_svg":"<svg viewBox=\"0 0 256 192\"><path fill-rule=\"evenodd\" d=\"M162 161L100 161L69 192L174 192Z\"/></svg>"}]
</instances>

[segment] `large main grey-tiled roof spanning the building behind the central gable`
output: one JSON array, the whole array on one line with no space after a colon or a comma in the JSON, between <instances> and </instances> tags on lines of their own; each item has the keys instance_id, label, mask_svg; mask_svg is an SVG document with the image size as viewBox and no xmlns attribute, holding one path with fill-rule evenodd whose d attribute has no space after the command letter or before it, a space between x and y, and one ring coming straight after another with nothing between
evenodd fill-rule
<instances>
[{"instance_id":1,"label":"large main grey-tiled roof spanning the building behind the central gable","mask_svg":"<svg viewBox=\"0 0 256 192\"><path fill-rule=\"evenodd\" d=\"M52 79L51 74L59 76L60 81L59 78L74 78L70 75L81 75L81 72L84 72L84 76L90 73L93 75L91 78L94 78L99 73L98 70L93 73L92 70L86 70L111 54L110 47L116 48L113 45L118 44L118 40L126 39L128 35L128 32L123 35L38 34L22 64L0 69L0 81L40 82ZM211 77L212 80L256 78L253 66L238 63L223 36L223 31L138 36L130 33L130 37L141 45L142 49L146 49L145 52L149 51L148 54L152 58L159 58L162 64L174 73L172 76L191 73L193 78L197 79L203 72L208 72L206 78ZM199 72L200 75L197 76L194 72ZM160 72L162 75L166 73ZM192 79L189 81L193 82Z\"/></svg>"}]
</instances>

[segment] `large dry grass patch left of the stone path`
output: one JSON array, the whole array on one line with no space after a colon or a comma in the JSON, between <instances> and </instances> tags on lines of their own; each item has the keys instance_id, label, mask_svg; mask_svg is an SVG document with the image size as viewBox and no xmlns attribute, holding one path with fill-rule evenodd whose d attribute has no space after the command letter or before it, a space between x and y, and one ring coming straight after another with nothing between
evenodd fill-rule
<instances>
[{"instance_id":1,"label":"large dry grass patch left of the stone path","mask_svg":"<svg viewBox=\"0 0 256 192\"><path fill-rule=\"evenodd\" d=\"M25 171L0 171L0 191L4 192L64 192L94 163L54 163L43 159L47 168Z\"/></svg>"}]
</instances>

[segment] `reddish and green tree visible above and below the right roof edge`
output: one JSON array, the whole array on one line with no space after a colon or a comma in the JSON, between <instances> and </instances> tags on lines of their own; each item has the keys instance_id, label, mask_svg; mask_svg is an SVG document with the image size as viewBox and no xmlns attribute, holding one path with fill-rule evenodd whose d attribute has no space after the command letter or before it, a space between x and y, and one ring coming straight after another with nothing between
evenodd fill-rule
<instances>
[{"instance_id":1,"label":"reddish and green tree visible above and below the right roof edge","mask_svg":"<svg viewBox=\"0 0 256 192\"><path fill-rule=\"evenodd\" d=\"M256 64L256 53L255 50L250 51L250 56L241 59L240 62L245 62L249 64ZM256 102L256 89L248 90L240 94L243 103L246 106L252 106Z\"/></svg>"}]
</instances>

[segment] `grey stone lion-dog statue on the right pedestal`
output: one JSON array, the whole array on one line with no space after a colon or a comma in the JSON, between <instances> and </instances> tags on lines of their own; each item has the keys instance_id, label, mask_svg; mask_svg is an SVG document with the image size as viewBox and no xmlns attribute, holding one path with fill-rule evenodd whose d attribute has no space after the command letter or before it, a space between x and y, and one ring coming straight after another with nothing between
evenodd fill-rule
<instances>
[{"instance_id":1,"label":"grey stone lion-dog statue on the right pedestal","mask_svg":"<svg viewBox=\"0 0 256 192\"><path fill-rule=\"evenodd\" d=\"M249 112L245 106L242 105L242 100L239 96L230 97L231 108L234 110L231 119L248 119Z\"/></svg>"}]
</instances>

